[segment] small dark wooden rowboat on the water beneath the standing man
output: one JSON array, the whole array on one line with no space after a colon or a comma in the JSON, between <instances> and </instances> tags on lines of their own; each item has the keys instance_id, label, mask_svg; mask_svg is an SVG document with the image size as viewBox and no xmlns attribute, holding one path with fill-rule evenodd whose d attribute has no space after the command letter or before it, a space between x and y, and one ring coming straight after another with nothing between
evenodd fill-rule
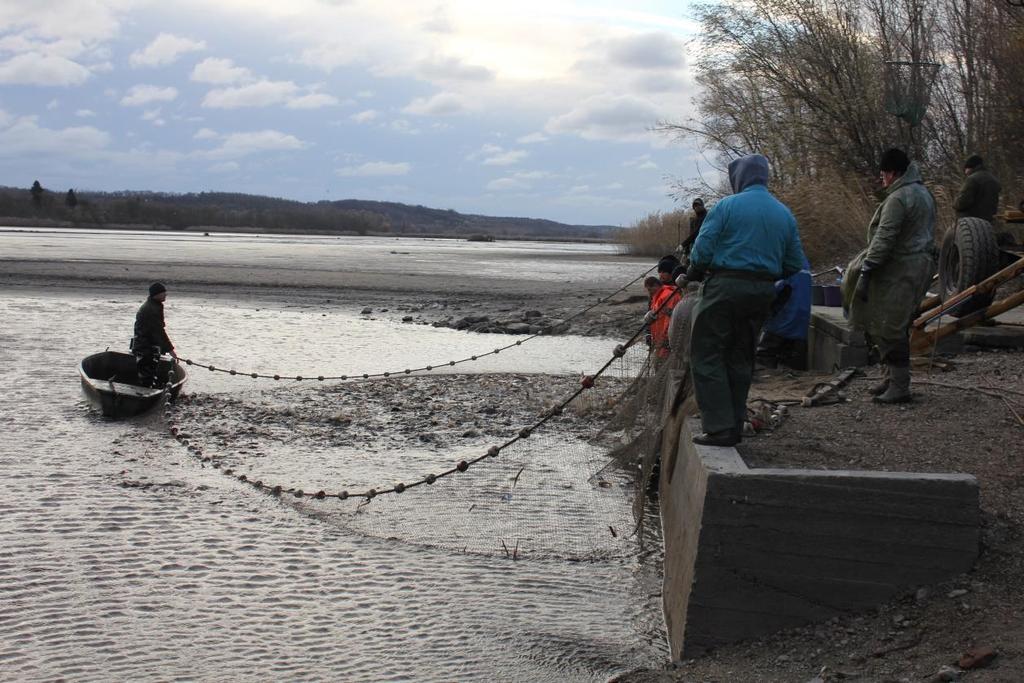
<instances>
[{"instance_id":1,"label":"small dark wooden rowboat on the water beneath the standing man","mask_svg":"<svg viewBox=\"0 0 1024 683\"><path fill-rule=\"evenodd\" d=\"M93 353L82 359L78 373L82 391L93 405L110 418L130 418L156 407L164 395L164 384L173 370L171 397L177 396L188 379L184 367L174 359L160 359L157 388L138 385L135 356L118 351Z\"/></svg>"}]
</instances>

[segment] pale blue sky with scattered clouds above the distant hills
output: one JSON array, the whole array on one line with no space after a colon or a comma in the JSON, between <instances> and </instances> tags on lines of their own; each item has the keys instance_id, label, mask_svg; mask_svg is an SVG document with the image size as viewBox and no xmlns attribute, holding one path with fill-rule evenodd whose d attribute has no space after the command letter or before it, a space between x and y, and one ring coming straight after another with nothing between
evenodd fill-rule
<instances>
[{"instance_id":1,"label":"pale blue sky with scattered clouds above the distant hills","mask_svg":"<svg viewBox=\"0 0 1024 683\"><path fill-rule=\"evenodd\" d=\"M685 0L0 0L0 184L628 225L698 156Z\"/></svg>"}]
</instances>

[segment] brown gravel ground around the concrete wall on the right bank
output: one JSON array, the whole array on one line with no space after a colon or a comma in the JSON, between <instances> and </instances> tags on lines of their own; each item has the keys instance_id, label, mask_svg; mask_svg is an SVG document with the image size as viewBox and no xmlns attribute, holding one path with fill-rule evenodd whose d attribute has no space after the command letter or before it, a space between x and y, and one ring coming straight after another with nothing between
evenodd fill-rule
<instances>
[{"instance_id":1,"label":"brown gravel ground around the concrete wall on the right bank","mask_svg":"<svg viewBox=\"0 0 1024 683\"><path fill-rule=\"evenodd\" d=\"M1024 680L1024 354L969 352L948 372L914 373L914 400L872 403L878 378L854 379L847 401L796 408L771 434L745 439L752 467L965 472L981 486L982 549L973 571L912 587L867 613L722 648L630 681ZM792 394L814 380L777 374L752 393ZM949 385L949 386L942 386ZM1009 405L1008 405L1009 402ZM987 666L961 670L973 647ZM966 663L965 663L966 664ZM943 669L943 668L946 669Z\"/></svg>"}]
</instances>

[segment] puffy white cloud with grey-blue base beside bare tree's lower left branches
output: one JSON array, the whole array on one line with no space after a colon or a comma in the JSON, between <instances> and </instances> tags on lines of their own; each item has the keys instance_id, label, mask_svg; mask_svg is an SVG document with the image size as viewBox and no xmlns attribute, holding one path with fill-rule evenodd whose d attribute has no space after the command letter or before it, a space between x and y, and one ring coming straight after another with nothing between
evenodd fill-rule
<instances>
[{"instance_id":1,"label":"puffy white cloud with grey-blue base beside bare tree's lower left branches","mask_svg":"<svg viewBox=\"0 0 1024 683\"><path fill-rule=\"evenodd\" d=\"M587 140L638 141L650 139L657 109L633 95L595 95L545 125L549 133L571 133Z\"/></svg>"}]
</instances>

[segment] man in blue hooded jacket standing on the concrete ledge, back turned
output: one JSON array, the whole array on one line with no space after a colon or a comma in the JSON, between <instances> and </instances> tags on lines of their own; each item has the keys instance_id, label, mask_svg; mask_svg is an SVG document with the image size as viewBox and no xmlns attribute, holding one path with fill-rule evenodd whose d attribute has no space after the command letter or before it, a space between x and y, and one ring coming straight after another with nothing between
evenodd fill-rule
<instances>
[{"instance_id":1,"label":"man in blue hooded jacket standing on the concrete ledge, back turned","mask_svg":"<svg viewBox=\"0 0 1024 683\"><path fill-rule=\"evenodd\" d=\"M694 310L690 369L706 445L734 445L746 419L758 333L775 281L804 267L797 219L768 191L768 160L729 164L733 195L708 213L690 251L687 280L703 280Z\"/></svg>"}]
</instances>

